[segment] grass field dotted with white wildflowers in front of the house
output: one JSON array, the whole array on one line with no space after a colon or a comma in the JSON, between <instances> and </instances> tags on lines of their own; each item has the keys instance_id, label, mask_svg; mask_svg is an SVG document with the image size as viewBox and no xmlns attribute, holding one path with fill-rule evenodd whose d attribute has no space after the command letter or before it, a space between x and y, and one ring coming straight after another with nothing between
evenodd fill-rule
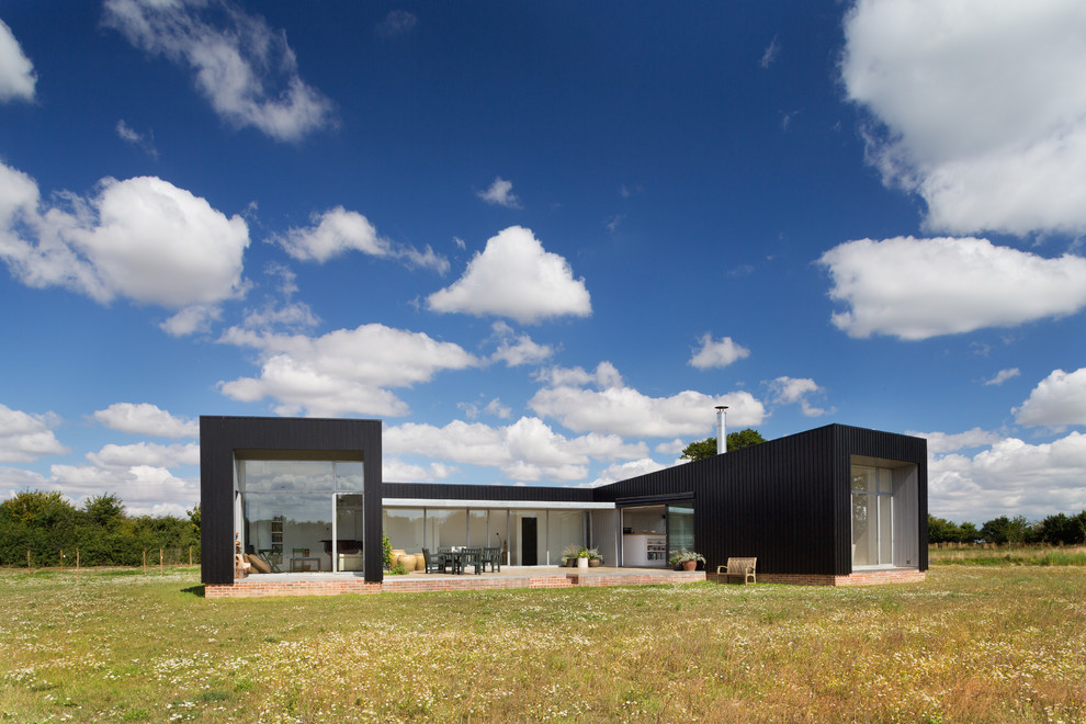
<instances>
[{"instance_id":1,"label":"grass field dotted with white wildflowers in front of the house","mask_svg":"<svg viewBox=\"0 0 1086 724\"><path fill-rule=\"evenodd\" d=\"M1086 569L208 601L0 573L0 721L1086 721Z\"/></svg>"}]
</instances>

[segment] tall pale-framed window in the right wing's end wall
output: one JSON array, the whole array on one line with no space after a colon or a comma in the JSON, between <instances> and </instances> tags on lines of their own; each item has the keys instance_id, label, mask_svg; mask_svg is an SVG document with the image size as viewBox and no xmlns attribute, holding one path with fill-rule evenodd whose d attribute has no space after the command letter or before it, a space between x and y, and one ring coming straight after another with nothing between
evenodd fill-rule
<instances>
[{"instance_id":1,"label":"tall pale-framed window in the right wing's end wall","mask_svg":"<svg viewBox=\"0 0 1086 724\"><path fill-rule=\"evenodd\" d=\"M885 467L853 465L851 488L852 565L893 565L893 472Z\"/></svg>"}]
</instances>

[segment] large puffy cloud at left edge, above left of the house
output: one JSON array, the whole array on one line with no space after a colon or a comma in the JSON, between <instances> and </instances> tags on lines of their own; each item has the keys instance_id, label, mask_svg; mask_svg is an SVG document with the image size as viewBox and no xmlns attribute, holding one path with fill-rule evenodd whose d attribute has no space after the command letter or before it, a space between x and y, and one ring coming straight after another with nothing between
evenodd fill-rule
<instances>
[{"instance_id":1,"label":"large puffy cloud at left edge, above left of the house","mask_svg":"<svg viewBox=\"0 0 1086 724\"><path fill-rule=\"evenodd\" d=\"M39 208L33 179L0 163L0 259L24 284L168 308L245 293L249 231L239 216L155 177L105 179L90 200L59 196L67 208Z\"/></svg>"}]
</instances>

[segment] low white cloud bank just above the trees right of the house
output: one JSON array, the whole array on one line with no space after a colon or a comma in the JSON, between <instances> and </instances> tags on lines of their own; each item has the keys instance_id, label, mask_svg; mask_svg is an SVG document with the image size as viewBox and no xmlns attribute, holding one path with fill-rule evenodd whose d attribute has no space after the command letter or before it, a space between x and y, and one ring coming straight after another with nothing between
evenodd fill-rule
<instances>
[{"instance_id":1,"label":"low white cloud bank just above the trees right of the house","mask_svg":"<svg viewBox=\"0 0 1086 724\"><path fill-rule=\"evenodd\" d=\"M928 479L931 514L959 522L1075 513L1086 509L1086 435L1037 445L1006 438L973 457L937 455Z\"/></svg>"}]
</instances>

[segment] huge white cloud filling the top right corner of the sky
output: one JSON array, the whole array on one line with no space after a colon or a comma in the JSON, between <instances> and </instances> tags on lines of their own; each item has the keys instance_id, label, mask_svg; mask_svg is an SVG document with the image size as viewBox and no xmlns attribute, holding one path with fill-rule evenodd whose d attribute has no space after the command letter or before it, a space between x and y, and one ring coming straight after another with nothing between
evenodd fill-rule
<instances>
[{"instance_id":1,"label":"huge white cloud filling the top right corner of the sky","mask_svg":"<svg viewBox=\"0 0 1086 724\"><path fill-rule=\"evenodd\" d=\"M861 0L845 33L869 157L928 228L1086 230L1086 4Z\"/></svg>"}]
</instances>

